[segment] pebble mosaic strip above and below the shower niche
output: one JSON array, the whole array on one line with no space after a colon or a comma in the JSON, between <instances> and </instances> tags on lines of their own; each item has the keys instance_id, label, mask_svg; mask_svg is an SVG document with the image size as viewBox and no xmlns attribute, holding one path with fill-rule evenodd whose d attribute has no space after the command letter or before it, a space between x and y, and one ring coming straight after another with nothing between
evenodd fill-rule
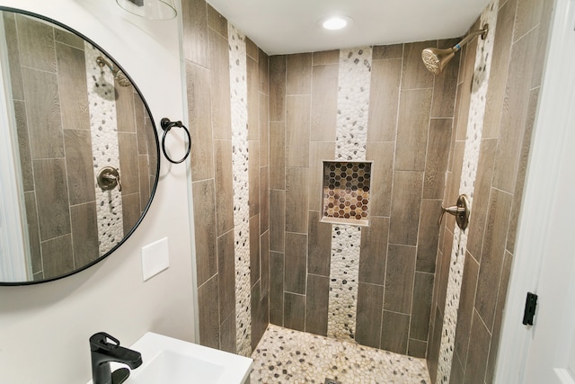
<instances>
[{"instance_id":1,"label":"pebble mosaic strip above and below the shower niche","mask_svg":"<svg viewBox=\"0 0 575 384\"><path fill-rule=\"evenodd\" d=\"M371 47L340 50L335 157L341 161L366 159L371 58ZM355 338L360 244L360 227L332 226L327 335L336 339Z\"/></svg>"}]
</instances>

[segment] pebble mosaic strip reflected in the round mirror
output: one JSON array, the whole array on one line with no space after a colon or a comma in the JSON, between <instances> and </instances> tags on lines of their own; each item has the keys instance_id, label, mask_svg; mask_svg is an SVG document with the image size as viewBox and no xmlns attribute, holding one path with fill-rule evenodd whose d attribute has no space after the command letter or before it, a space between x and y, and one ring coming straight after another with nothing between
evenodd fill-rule
<instances>
[{"instance_id":1,"label":"pebble mosaic strip reflected in the round mirror","mask_svg":"<svg viewBox=\"0 0 575 384\"><path fill-rule=\"evenodd\" d=\"M96 64L102 52L84 42L86 78L88 80L88 103L90 105L90 128L94 188L98 214L98 239L100 255L111 250L124 237L122 196L118 188L102 191L96 176L104 166L119 169L118 122L116 119L116 91L114 76L108 67Z\"/></svg>"}]
</instances>

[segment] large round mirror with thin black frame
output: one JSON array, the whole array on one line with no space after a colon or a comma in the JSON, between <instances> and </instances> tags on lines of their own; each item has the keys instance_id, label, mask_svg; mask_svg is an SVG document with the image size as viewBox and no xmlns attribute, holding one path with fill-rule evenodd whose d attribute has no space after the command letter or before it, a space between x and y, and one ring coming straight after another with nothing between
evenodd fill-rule
<instances>
[{"instance_id":1,"label":"large round mirror with thin black frame","mask_svg":"<svg viewBox=\"0 0 575 384\"><path fill-rule=\"evenodd\" d=\"M146 101L104 50L0 7L0 285L110 255L148 210L159 146Z\"/></svg>"}]
</instances>

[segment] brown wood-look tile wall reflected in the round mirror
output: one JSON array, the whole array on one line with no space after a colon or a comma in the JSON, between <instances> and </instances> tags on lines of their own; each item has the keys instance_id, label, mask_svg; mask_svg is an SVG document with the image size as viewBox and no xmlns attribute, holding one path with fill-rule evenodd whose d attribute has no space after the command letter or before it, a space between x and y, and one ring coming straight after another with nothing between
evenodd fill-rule
<instances>
[{"instance_id":1,"label":"brown wood-look tile wall reflected in the round mirror","mask_svg":"<svg viewBox=\"0 0 575 384\"><path fill-rule=\"evenodd\" d=\"M31 270L35 280L43 280L99 256L84 40L44 22L3 14ZM149 201L157 156L144 103L132 86L117 91L128 233Z\"/></svg>"}]
</instances>

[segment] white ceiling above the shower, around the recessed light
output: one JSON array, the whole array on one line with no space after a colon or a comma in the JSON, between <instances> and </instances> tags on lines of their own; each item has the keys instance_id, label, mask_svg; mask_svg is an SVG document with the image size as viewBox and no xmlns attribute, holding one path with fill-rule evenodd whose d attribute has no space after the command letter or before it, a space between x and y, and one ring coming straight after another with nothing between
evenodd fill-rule
<instances>
[{"instance_id":1,"label":"white ceiling above the shower, around the recessed light","mask_svg":"<svg viewBox=\"0 0 575 384\"><path fill-rule=\"evenodd\" d=\"M269 55L462 36L490 0L208 0ZM342 14L354 22L324 31Z\"/></svg>"}]
</instances>

